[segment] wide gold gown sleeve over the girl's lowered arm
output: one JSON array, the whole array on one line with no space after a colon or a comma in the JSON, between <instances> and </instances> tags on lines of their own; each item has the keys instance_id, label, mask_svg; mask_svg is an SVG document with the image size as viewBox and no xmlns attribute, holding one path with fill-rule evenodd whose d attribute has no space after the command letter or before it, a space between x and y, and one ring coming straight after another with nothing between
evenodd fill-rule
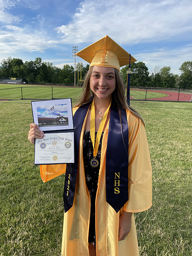
<instances>
[{"instance_id":1,"label":"wide gold gown sleeve over the girl's lowered arm","mask_svg":"<svg viewBox=\"0 0 192 256\"><path fill-rule=\"evenodd\" d=\"M147 210L152 205L152 168L145 126L139 118L129 125L128 178L128 201L123 210Z\"/></svg>"}]
</instances>

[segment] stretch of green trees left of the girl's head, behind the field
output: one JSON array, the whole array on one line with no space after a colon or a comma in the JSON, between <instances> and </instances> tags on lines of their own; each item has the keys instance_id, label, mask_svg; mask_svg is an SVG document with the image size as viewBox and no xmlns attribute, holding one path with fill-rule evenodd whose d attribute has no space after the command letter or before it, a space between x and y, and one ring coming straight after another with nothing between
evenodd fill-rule
<instances>
[{"instance_id":1,"label":"stretch of green trees left of the girl's head, behind the field","mask_svg":"<svg viewBox=\"0 0 192 256\"><path fill-rule=\"evenodd\" d=\"M80 63L78 63L77 68L81 70L82 78L89 70L89 65L83 67L81 64L80 68ZM40 57L35 58L35 61L25 61L25 63L22 59L9 57L1 62L0 78L3 77L22 78L26 83L74 84L74 67L67 64L61 69L51 62L42 61ZM76 84L78 84L78 70L76 70Z\"/></svg>"}]
</instances>

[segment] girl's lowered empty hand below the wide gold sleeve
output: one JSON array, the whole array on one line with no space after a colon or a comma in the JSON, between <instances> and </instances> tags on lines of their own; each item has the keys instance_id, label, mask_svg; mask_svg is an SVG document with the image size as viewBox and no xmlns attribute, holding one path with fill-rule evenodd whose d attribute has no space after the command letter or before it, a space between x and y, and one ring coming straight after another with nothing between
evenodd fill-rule
<instances>
[{"instance_id":1,"label":"girl's lowered empty hand below the wide gold sleeve","mask_svg":"<svg viewBox=\"0 0 192 256\"><path fill-rule=\"evenodd\" d=\"M132 212L123 211L119 217L119 241L124 240L131 230L131 216Z\"/></svg>"}]
</instances>

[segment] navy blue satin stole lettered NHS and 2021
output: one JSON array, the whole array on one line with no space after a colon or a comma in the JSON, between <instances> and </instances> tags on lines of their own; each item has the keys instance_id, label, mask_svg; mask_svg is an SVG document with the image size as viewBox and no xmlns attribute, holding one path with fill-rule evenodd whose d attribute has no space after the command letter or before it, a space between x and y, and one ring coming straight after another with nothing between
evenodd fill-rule
<instances>
[{"instance_id":1,"label":"navy blue satin stole lettered NHS and 2021","mask_svg":"<svg viewBox=\"0 0 192 256\"><path fill-rule=\"evenodd\" d=\"M75 128L75 163L67 164L64 185L64 209L73 206L82 125L92 101L78 108L73 116ZM118 212L128 201L128 122L124 109L121 121L118 109L111 105L106 153L106 201Z\"/></svg>"}]
</instances>

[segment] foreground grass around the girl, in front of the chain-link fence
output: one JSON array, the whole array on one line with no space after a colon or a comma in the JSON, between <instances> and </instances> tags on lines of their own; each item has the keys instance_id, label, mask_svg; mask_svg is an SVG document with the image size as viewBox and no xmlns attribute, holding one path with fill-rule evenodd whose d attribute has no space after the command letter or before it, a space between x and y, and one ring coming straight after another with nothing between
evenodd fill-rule
<instances>
[{"instance_id":1,"label":"foreground grass around the girl, in front of the chain-link fence","mask_svg":"<svg viewBox=\"0 0 192 256\"><path fill-rule=\"evenodd\" d=\"M131 102L143 116L153 206L135 214L140 256L192 255L192 104ZM60 256L64 176L43 183L30 101L0 102L0 256Z\"/></svg>"}]
</instances>

